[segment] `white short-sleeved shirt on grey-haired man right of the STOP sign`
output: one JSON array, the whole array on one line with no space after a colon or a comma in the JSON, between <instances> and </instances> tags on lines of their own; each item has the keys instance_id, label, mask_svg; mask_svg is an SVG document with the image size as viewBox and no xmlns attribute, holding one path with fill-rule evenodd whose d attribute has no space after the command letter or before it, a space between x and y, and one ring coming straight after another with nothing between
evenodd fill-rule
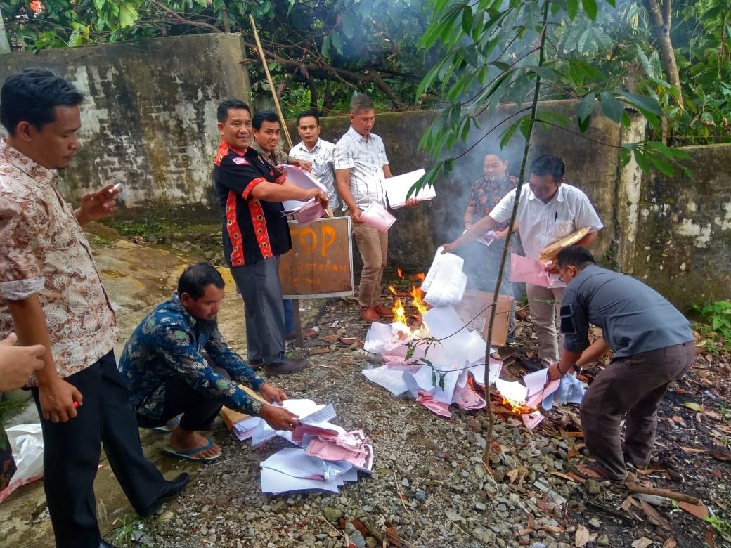
<instances>
[{"instance_id":1,"label":"white short-sleeved shirt on grey-haired man right of the STOP sign","mask_svg":"<svg viewBox=\"0 0 731 548\"><path fill-rule=\"evenodd\" d=\"M335 145L333 165L336 170L350 170L350 192L358 208L366 209L373 202L386 207L383 167L388 158L381 137L371 133L366 140L351 126Z\"/></svg>"}]
</instances>

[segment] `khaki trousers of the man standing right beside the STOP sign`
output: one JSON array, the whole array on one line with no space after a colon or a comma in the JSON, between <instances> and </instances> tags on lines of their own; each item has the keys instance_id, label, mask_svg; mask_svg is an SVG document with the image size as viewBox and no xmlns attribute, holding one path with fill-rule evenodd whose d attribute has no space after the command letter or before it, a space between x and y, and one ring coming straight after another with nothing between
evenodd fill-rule
<instances>
[{"instance_id":1,"label":"khaki trousers of the man standing right beside the STOP sign","mask_svg":"<svg viewBox=\"0 0 731 548\"><path fill-rule=\"evenodd\" d=\"M352 211L346 210L345 214L352 216ZM388 260L388 232L379 232L368 224L353 223L353 237L363 260L358 302L362 307L375 306L381 297L383 269Z\"/></svg>"}]
</instances>

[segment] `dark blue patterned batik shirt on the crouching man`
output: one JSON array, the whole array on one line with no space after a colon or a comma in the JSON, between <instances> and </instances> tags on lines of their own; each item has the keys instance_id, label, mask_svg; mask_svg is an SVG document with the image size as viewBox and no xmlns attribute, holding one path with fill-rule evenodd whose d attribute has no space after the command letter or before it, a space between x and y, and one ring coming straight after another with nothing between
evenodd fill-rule
<instances>
[{"instance_id":1,"label":"dark blue patterned batik shirt on the crouching man","mask_svg":"<svg viewBox=\"0 0 731 548\"><path fill-rule=\"evenodd\" d=\"M201 352L208 352L214 367L227 370L231 380L216 373ZM177 294L157 305L137 326L124 345L119 370L129 386L137 413L160 419L165 405L165 383L180 375L200 395L228 408L256 415L262 404L237 386L254 390L264 384L246 362L224 342L216 324L197 320Z\"/></svg>"}]
</instances>

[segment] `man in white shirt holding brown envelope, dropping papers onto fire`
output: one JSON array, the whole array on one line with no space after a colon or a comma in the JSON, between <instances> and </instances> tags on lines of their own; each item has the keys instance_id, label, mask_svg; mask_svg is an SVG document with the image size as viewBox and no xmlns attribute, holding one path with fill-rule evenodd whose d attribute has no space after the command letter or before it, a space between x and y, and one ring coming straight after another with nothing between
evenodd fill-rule
<instances>
[{"instance_id":1,"label":"man in white shirt holding brown envelope, dropping papers onto fire","mask_svg":"<svg viewBox=\"0 0 731 548\"><path fill-rule=\"evenodd\" d=\"M471 225L457 240L445 244L444 251L451 253L508 221L516 191L508 192L487 216ZM531 162L529 184L520 191L515 224L529 259L538 259L540 252L550 243L578 229L591 227L590 232L575 244L586 248L604 227L586 194L564 183L564 161L553 154L544 154ZM556 273L556 265L548 271ZM558 285L548 288L526 284L528 305L538 339L538 357L547 364L558 361L558 313L564 284Z\"/></svg>"}]
</instances>

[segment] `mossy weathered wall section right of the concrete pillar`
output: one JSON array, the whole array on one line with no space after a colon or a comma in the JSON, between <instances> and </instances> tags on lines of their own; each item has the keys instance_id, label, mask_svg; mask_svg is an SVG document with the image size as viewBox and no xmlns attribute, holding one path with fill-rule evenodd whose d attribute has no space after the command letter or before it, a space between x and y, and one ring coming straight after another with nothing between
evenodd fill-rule
<instances>
[{"instance_id":1,"label":"mossy weathered wall section right of the concrete pillar","mask_svg":"<svg viewBox=\"0 0 731 548\"><path fill-rule=\"evenodd\" d=\"M635 275L681 310L731 300L731 144L684 148L693 178L646 175Z\"/></svg>"}]
</instances>

